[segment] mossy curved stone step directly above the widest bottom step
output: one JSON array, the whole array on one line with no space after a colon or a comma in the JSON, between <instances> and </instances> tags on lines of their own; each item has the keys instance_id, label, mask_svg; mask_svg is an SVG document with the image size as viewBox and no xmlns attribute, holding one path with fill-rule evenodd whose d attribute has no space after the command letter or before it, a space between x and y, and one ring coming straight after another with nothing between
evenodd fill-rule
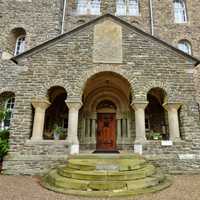
<instances>
[{"instance_id":1,"label":"mossy curved stone step directly above the widest bottom step","mask_svg":"<svg viewBox=\"0 0 200 200\"><path fill-rule=\"evenodd\" d=\"M71 168L60 168L58 174L67 178L78 180L108 180L108 181L125 181L136 180L147 176L151 176L155 173L155 167L147 164L141 169L130 171L81 171Z\"/></svg>"}]
</instances>

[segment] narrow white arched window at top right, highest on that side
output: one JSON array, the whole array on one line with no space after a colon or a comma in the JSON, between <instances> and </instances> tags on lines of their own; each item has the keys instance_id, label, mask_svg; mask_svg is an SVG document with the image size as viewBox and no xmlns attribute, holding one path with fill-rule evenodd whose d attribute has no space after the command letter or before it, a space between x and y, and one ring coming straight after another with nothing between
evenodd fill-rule
<instances>
[{"instance_id":1,"label":"narrow white arched window at top right, highest on that side","mask_svg":"<svg viewBox=\"0 0 200 200\"><path fill-rule=\"evenodd\" d=\"M187 22L187 12L184 0L174 0L175 23Z\"/></svg>"}]
</instances>

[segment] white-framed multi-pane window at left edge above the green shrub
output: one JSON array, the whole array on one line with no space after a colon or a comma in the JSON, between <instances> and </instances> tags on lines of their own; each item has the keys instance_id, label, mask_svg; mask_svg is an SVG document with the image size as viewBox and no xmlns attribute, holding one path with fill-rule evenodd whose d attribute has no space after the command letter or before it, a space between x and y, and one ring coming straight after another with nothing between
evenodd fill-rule
<instances>
[{"instance_id":1,"label":"white-framed multi-pane window at left edge above the green shrub","mask_svg":"<svg viewBox=\"0 0 200 200\"><path fill-rule=\"evenodd\" d=\"M6 116L5 119L1 122L1 128L9 128L10 127L10 121L12 118L12 112L13 112L13 108L14 108L14 104L15 104L15 98L14 97L10 97L5 101L5 111L6 111Z\"/></svg>"}]
</instances>

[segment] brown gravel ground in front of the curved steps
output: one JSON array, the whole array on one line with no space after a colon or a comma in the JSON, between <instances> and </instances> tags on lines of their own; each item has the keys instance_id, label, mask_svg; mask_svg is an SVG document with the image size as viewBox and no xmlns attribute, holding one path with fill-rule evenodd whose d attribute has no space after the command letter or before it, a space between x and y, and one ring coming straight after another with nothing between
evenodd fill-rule
<instances>
[{"instance_id":1,"label":"brown gravel ground in front of the curved steps","mask_svg":"<svg viewBox=\"0 0 200 200\"><path fill-rule=\"evenodd\" d=\"M97 200L57 194L42 188L37 177L1 176L0 200ZM102 198L103 199L103 198ZM105 199L105 198L104 198ZM173 185L161 192L126 200L200 200L200 175L175 176Z\"/></svg>"}]
</instances>

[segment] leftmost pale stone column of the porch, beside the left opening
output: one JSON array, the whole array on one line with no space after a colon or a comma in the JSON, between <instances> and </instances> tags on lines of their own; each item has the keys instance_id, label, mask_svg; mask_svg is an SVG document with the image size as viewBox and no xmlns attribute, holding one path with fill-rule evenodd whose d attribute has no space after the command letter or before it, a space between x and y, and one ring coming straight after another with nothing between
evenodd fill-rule
<instances>
[{"instance_id":1,"label":"leftmost pale stone column of the porch, beside the left opening","mask_svg":"<svg viewBox=\"0 0 200 200\"><path fill-rule=\"evenodd\" d=\"M51 105L51 103L46 99L34 99L32 100L32 105L35 108L35 115L31 140L42 140L45 111Z\"/></svg>"}]
</instances>

